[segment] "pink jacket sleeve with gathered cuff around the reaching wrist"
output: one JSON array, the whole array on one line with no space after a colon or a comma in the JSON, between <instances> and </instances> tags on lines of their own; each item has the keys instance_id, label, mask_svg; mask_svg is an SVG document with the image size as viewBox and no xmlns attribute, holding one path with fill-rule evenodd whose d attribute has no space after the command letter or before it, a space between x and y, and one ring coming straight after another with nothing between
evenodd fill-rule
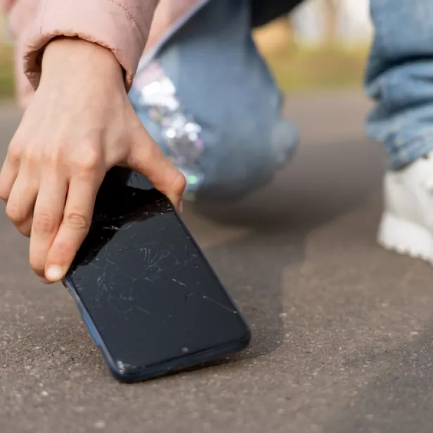
<instances>
[{"instance_id":1,"label":"pink jacket sleeve with gathered cuff around the reaching wrist","mask_svg":"<svg viewBox=\"0 0 433 433\"><path fill-rule=\"evenodd\" d=\"M10 13L25 75L34 88L44 47L54 37L68 36L111 49L125 70L129 89L157 4L158 0L0 0Z\"/></svg>"}]
</instances>

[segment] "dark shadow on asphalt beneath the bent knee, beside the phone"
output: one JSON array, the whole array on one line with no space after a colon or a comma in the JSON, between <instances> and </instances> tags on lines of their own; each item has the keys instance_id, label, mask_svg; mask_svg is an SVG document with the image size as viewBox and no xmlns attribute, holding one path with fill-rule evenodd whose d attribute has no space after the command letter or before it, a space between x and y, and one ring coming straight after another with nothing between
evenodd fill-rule
<instances>
[{"instance_id":1,"label":"dark shadow on asphalt beneath the bent knee, beside the phone","mask_svg":"<svg viewBox=\"0 0 433 433\"><path fill-rule=\"evenodd\" d=\"M242 357L261 356L280 346L290 332L282 325L284 269L303 261L311 230L360 206L377 191L382 166L379 149L365 140L309 145L270 187L249 199L232 206L197 207L218 223L250 229L241 239L206 249L251 323L251 352Z\"/></svg>"}]
</instances>

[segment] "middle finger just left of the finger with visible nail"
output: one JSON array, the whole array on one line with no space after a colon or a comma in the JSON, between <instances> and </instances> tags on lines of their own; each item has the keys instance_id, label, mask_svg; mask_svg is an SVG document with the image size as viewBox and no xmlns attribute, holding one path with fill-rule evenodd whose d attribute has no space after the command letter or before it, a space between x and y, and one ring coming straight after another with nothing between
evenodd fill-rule
<instances>
[{"instance_id":1,"label":"middle finger just left of the finger with visible nail","mask_svg":"<svg viewBox=\"0 0 433 433\"><path fill-rule=\"evenodd\" d=\"M30 265L39 277L45 277L46 258L63 218L68 181L60 172L42 175L34 204L30 237Z\"/></svg>"}]
</instances>

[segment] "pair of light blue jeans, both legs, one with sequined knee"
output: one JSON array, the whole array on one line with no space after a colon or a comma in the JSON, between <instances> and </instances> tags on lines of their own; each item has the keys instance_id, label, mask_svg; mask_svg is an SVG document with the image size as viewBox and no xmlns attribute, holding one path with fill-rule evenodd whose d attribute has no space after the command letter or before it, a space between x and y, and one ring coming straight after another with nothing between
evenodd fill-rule
<instances>
[{"instance_id":1,"label":"pair of light blue jeans, both legs, one with sequined knee","mask_svg":"<svg viewBox=\"0 0 433 433\"><path fill-rule=\"evenodd\" d=\"M203 1L143 59L130 99L197 199L238 199L269 182L294 154L298 134L282 116L282 95L251 39L253 24L263 23L251 11L275 18L299 2ZM433 2L371 0L371 9L375 41L365 82L376 105L367 130L398 169L433 150ZM143 78L151 63L165 87L162 110L153 78Z\"/></svg>"}]
</instances>

